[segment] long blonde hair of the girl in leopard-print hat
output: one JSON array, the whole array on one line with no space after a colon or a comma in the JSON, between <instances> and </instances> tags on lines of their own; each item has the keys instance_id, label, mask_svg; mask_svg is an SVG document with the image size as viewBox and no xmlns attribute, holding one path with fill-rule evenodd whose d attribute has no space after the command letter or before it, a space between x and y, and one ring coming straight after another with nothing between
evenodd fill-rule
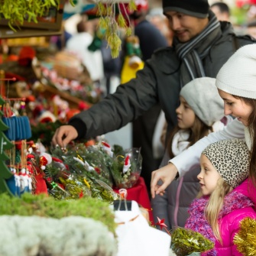
<instances>
[{"instance_id":1,"label":"long blonde hair of the girl in leopard-print hat","mask_svg":"<svg viewBox=\"0 0 256 256\"><path fill-rule=\"evenodd\" d=\"M219 231L218 217L222 209L224 197L233 190L232 186L228 185L221 177L217 182L215 190L213 190L209 201L206 205L205 216L209 225L212 227L213 235L222 244L222 237Z\"/></svg>"}]
</instances>

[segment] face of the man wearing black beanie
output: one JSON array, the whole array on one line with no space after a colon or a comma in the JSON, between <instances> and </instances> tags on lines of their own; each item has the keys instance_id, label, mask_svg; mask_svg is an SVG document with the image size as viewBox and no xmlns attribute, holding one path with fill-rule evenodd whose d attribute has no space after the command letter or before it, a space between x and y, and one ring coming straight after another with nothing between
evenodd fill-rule
<instances>
[{"instance_id":1,"label":"face of the man wearing black beanie","mask_svg":"<svg viewBox=\"0 0 256 256\"><path fill-rule=\"evenodd\" d=\"M165 15L169 20L169 27L173 31L174 37L177 37L181 43L196 37L209 22L208 18L196 18L177 11L167 11Z\"/></svg>"}]
</instances>

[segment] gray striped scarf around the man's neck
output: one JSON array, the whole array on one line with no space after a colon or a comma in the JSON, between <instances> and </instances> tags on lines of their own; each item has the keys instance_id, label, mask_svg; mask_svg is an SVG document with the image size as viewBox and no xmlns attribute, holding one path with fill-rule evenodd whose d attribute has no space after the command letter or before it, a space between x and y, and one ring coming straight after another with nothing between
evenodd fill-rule
<instances>
[{"instance_id":1,"label":"gray striped scarf around the man's neck","mask_svg":"<svg viewBox=\"0 0 256 256\"><path fill-rule=\"evenodd\" d=\"M221 34L219 21L212 11L209 11L209 24L198 36L185 44L174 39L177 56L182 60L180 66L181 87L195 78L206 76L202 60Z\"/></svg>"}]
</instances>

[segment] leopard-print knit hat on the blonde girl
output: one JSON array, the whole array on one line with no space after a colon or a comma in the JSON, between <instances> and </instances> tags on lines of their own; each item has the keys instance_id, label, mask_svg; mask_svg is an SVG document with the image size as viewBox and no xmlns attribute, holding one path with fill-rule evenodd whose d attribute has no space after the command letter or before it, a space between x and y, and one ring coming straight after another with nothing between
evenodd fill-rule
<instances>
[{"instance_id":1,"label":"leopard-print knit hat on the blonde girl","mask_svg":"<svg viewBox=\"0 0 256 256\"><path fill-rule=\"evenodd\" d=\"M209 144L206 155L219 175L232 187L238 186L249 175L250 154L245 141L234 138Z\"/></svg>"}]
</instances>

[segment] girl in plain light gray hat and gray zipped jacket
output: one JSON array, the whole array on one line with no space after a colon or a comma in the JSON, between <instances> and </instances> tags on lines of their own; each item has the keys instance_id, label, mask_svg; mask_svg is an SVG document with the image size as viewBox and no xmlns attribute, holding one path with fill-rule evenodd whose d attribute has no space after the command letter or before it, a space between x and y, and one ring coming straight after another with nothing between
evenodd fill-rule
<instances>
[{"instance_id":1,"label":"girl in plain light gray hat and gray zipped jacket","mask_svg":"<svg viewBox=\"0 0 256 256\"><path fill-rule=\"evenodd\" d=\"M219 120L224 116L223 102L215 87L215 79L202 77L193 79L180 91L180 106L176 109L177 127L170 134L162 166L187 147L212 131L224 127ZM173 180L164 196L151 200L154 221L165 219L167 228L184 226L188 217L187 209L199 192L196 178L197 167L180 180Z\"/></svg>"}]
</instances>

